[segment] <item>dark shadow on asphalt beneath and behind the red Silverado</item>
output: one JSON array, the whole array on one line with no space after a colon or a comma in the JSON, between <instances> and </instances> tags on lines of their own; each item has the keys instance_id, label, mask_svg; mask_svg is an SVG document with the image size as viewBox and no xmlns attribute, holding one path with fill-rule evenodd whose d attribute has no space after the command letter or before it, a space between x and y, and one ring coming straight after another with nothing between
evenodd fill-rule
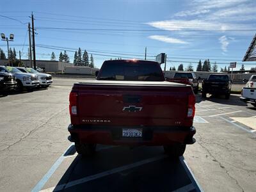
<instances>
[{"instance_id":1,"label":"dark shadow on asphalt beneath and behind the red Silverado","mask_svg":"<svg viewBox=\"0 0 256 192\"><path fill-rule=\"evenodd\" d=\"M162 147L99 149L93 157L77 155L54 191L200 191L180 159Z\"/></svg>"}]
</instances>

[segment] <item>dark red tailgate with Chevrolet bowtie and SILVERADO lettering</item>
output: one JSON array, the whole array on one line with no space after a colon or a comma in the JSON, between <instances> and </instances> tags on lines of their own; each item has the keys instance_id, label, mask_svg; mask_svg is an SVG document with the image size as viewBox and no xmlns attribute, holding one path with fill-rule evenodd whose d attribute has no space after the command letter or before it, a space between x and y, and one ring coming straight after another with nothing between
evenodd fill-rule
<instances>
[{"instance_id":1,"label":"dark red tailgate with Chevrolet bowtie and SILVERADO lettering","mask_svg":"<svg viewBox=\"0 0 256 192\"><path fill-rule=\"evenodd\" d=\"M77 121L97 125L191 125L193 120L186 119L191 86L164 84L76 84Z\"/></svg>"}]
</instances>

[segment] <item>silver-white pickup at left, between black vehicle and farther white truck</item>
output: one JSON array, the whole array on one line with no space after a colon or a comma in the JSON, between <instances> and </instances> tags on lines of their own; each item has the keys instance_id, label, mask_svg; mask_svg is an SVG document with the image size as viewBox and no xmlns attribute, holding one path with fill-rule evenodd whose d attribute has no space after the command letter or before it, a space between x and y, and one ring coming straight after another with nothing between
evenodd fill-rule
<instances>
[{"instance_id":1,"label":"silver-white pickup at left, between black vehicle and farther white truck","mask_svg":"<svg viewBox=\"0 0 256 192\"><path fill-rule=\"evenodd\" d=\"M23 88L35 88L39 85L38 76L36 74L24 73L15 67L0 66L0 70L15 75L17 81L17 90L23 90Z\"/></svg>"}]
</instances>

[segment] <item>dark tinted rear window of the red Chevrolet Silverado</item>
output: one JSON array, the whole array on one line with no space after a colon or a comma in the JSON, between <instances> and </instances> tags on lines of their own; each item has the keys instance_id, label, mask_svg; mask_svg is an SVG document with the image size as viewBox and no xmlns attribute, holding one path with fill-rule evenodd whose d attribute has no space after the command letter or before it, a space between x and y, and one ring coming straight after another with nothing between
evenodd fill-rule
<instances>
[{"instance_id":1,"label":"dark tinted rear window of the red Chevrolet Silverado","mask_svg":"<svg viewBox=\"0 0 256 192\"><path fill-rule=\"evenodd\" d=\"M150 62L107 62L102 65L98 80L113 81L164 81L161 68Z\"/></svg>"}]
</instances>

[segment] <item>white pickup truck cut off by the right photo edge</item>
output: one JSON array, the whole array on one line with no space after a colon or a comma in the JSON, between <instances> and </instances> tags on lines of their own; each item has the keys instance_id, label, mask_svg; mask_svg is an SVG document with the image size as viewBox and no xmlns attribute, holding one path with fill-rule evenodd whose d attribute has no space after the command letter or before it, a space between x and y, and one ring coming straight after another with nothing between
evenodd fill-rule
<instances>
[{"instance_id":1,"label":"white pickup truck cut off by the right photo edge","mask_svg":"<svg viewBox=\"0 0 256 192\"><path fill-rule=\"evenodd\" d=\"M256 75L250 77L241 93L240 100L256 107Z\"/></svg>"}]
</instances>

